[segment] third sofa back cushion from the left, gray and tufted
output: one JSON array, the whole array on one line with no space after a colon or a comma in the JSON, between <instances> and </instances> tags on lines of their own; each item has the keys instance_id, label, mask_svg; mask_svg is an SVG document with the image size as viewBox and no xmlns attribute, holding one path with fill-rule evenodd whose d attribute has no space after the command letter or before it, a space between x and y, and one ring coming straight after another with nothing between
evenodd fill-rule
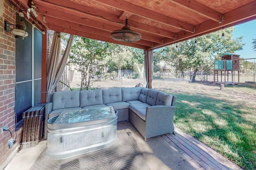
<instances>
[{"instance_id":1,"label":"third sofa back cushion from the left, gray and tufted","mask_svg":"<svg viewBox=\"0 0 256 170\"><path fill-rule=\"evenodd\" d=\"M122 102L121 88L110 88L102 90L103 104Z\"/></svg>"}]
</instances>

